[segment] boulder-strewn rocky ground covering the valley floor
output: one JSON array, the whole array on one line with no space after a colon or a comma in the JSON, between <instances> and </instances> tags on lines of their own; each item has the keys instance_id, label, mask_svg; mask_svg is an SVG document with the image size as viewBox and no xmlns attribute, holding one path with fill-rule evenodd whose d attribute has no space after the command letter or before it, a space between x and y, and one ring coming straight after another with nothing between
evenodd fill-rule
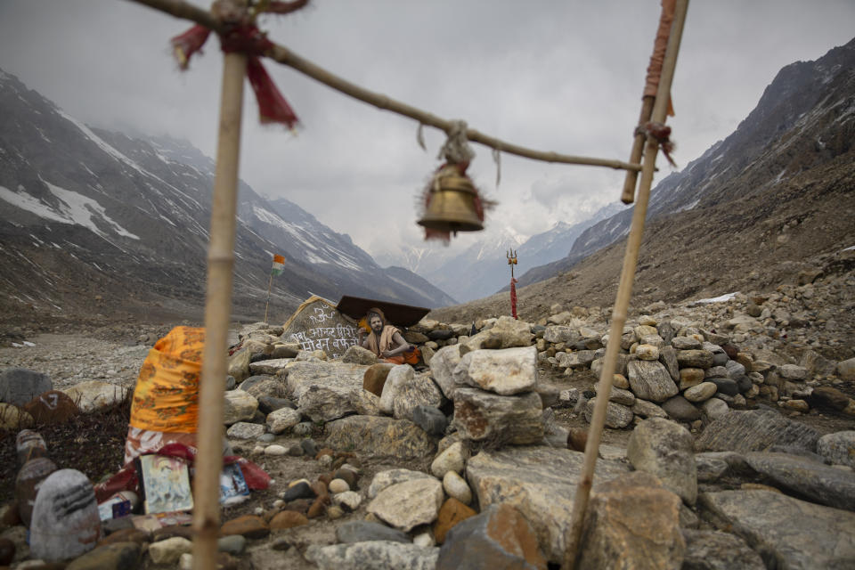
<instances>
[{"instance_id":1,"label":"boulder-strewn rocky ground covering the valley floor","mask_svg":"<svg viewBox=\"0 0 855 570\"><path fill-rule=\"evenodd\" d=\"M855 560L855 354L832 311L853 285L851 272L805 274L766 294L660 302L631 317L616 340L582 567L638 557L687 569ZM560 567L608 317L558 303L530 322L425 319L406 332L428 362L416 369L356 347L327 361L281 338L281 327L235 330L227 436L273 481L224 507L224 564L452 568L488 556ZM81 414L51 424L18 412L15 428L33 424L59 467L103 481L120 467L134 371L166 330L19 330L8 341L17 346L0 348L0 367L50 374ZM8 406L3 417L12 418ZM0 450L6 481L19 468L15 433ZM112 456L67 452L95 441ZM4 487L11 526L0 539L20 565L36 557L14 494ZM129 521L105 523L102 546L69 567L187 563L186 527L123 530ZM496 525L513 530L499 537Z\"/></svg>"}]
</instances>

